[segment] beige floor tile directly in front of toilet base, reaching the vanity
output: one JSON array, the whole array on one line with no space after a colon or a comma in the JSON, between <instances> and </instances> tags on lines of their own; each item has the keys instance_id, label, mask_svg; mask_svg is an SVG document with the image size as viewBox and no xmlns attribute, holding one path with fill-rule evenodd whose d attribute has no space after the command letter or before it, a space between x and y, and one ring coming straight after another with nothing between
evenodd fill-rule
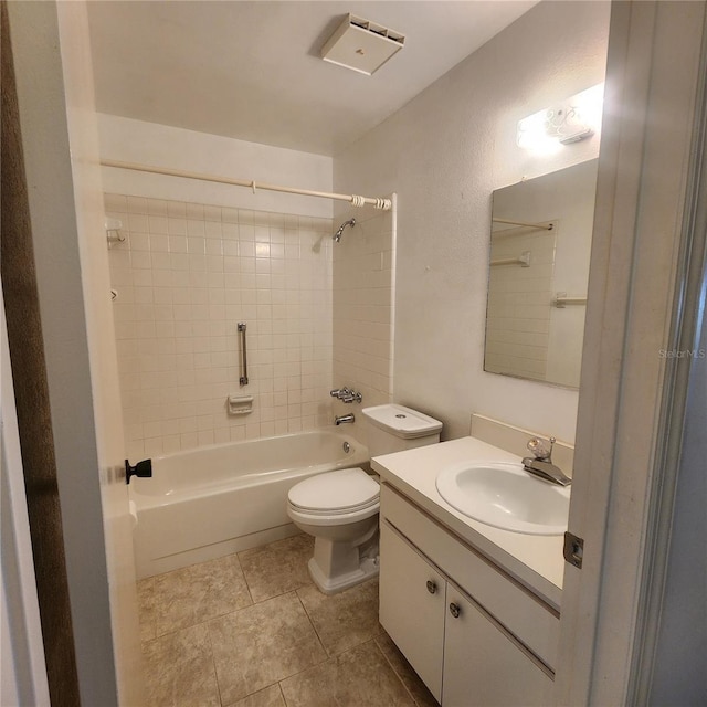
<instances>
[{"instance_id":1,"label":"beige floor tile directly in front of toilet base, reaching the vanity","mask_svg":"<svg viewBox=\"0 0 707 707\"><path fill-rule=\"evenodd\" d=\"M314 584L297 590L327 653L338 655L377 636L378 580L338 594L323 594Z\"/></svg>"}]
</instances>

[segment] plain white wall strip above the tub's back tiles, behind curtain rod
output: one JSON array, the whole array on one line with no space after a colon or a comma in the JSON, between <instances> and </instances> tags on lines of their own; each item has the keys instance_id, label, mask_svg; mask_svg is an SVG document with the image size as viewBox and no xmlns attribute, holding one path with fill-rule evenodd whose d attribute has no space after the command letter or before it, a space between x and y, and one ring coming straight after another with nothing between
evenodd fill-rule
<instances>
[{"instance_id":1,"label":"plain white wall strip above the tub's back tiles, behind curtain rod","mask_svg":"<svg viewBox=\"0 0 707 707\"><path fill-rule=\"evenodd\" d=\"M102 159L331 191L331 158L167 125L98 114ZM333 202L274 191L253 192L193 179L104 167L107 192L256 211L331 218ZM357 192L358 193L358 192Z\"/></svg>"}]
</instances>

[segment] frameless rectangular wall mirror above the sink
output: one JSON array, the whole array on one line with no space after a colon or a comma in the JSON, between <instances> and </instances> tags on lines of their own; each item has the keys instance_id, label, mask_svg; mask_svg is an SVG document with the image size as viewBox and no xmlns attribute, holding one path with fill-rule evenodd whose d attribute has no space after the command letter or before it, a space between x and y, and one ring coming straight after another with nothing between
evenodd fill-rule
<instances>
[{"instance_id":1,"label":"frameless rectangular wall mirror above the sink","mask_svg":"<svg viewBox=\"0 0 707 707\"><path fill-rule=\"evenodd\" d=\"M484 370L579 388L597 160L494 191Z\"/></svg>"}]
</instances>

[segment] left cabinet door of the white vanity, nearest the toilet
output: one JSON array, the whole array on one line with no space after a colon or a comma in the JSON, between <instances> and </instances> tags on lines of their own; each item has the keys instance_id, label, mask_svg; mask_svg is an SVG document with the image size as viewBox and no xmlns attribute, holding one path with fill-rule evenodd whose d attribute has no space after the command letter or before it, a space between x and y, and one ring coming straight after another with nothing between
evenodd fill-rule
<instances>
[{"instance_id":1,"label":"left cabinet door of the white vanity, nearest the toilet","mask_svg":"<svg viewBox=\"0 0 707 707\"><path fill-rule=\"evenodd\" d=\"M430 688L442 695L446 582L386 520L380 528L380 622Z\"/></svg>"}]
</instances>

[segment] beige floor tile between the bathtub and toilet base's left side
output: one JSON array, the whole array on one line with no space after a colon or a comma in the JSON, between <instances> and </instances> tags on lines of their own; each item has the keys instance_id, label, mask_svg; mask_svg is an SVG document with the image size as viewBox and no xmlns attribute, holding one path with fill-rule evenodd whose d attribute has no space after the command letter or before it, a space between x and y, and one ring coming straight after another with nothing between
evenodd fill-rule
<instances>
[{"instance_id":1,"label":"beige floor tile between the bathtub and toilet base's left side","mask_svg":"<svg viewBox=\"0 0 707 707\"><path fill-rule=\"evenodd\" d=\"M304 534L239 552L253 601L310 584L307 562L313 553L314 538Z\"/></svg>"}]
</instances>

